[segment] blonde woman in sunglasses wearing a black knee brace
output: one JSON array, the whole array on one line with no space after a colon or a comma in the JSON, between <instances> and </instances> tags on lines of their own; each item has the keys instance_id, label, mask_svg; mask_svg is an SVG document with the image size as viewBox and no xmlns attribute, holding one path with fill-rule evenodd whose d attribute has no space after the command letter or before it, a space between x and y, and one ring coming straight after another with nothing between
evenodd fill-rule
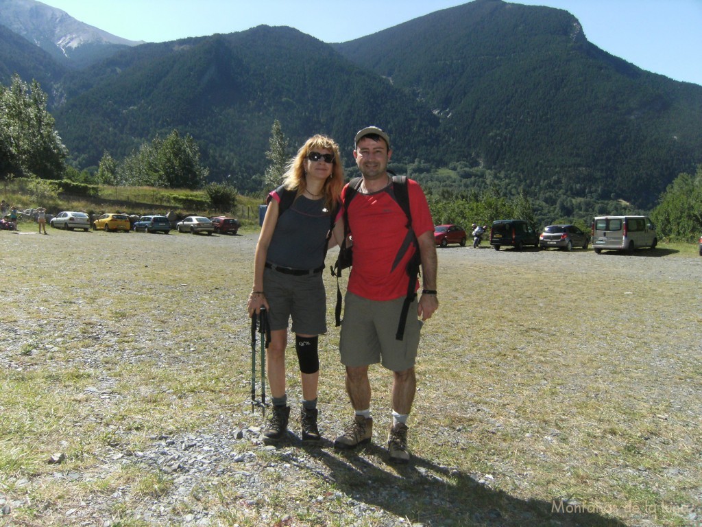
<instances>
[{"instance_id":1,"label":"blonde woman in sunglasses wearing a black knee brace","mask_svg":"<svg viewBox=\"0 0 702 527\"><path fill-rule=\"evenodd\" d=\"M273 408L263 429L266 441L287 433L290 407L285 389L288 321L295 333L303 403L303 442L320 440L317 428L319 334L326 332L326 293L322 282L329 231L339 216L344 171L338 145L316 135L289 163L282 186L268 195L256 256L249 315L265 307L270 317L267 375ZM289 198L293 198L292 200Z\"/></svg>"}]
</instances>

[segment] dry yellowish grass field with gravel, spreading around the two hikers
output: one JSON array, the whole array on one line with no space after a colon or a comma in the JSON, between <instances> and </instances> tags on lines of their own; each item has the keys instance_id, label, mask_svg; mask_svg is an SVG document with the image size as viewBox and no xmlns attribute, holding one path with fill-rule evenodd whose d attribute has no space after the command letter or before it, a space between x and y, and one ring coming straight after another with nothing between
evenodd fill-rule
<instances>
[{"instance_id":1,"label":"dry yellowish grass field with gravel, spreading around the two hikers","mask_svg":"<svg viewBox=\"0 0 702 527\"><path fill-rule=\"evenodd\" d=\"M115 526L148 525L135 511L175 476L115 453L258 424L244 308L255 236L49 233L0 232L0 497L19 504L0 525L86 524L67 512L100 501ZM379 512L432 526L698 524L702 258L656 254L439 250L411 467L376 447L242 441L260 466L291 474L263 469L268 491L251 496L232 469L174 512L204 508L232 526L385 525ZM328 291L331 321L331 279ZM337 344L330 323L320 411L331 438L350 415ZM390 379L374 368L371 382L383 445Z\"/></svg>"}]
</instances>

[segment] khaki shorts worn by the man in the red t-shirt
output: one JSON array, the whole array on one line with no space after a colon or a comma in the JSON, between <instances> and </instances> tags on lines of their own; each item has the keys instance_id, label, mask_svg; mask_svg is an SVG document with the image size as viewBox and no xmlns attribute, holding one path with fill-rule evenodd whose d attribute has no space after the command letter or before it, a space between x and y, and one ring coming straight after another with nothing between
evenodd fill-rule
<instances>
[{"instance_id":1,"label":"khaki shorts worn by the man in the red t-shirt","mask_svg":"<svg viewBox=\"0 0 702 527\"><path fill-rule=\"evenodd\" d=\"M349 367L381 363L393 372L414 366L423 322L417 318L417 301L407 313L404 338L397 340L397 323L404 297L377 301L347 292L341 323L341 363Z\"/></svg>"}]
</instances>

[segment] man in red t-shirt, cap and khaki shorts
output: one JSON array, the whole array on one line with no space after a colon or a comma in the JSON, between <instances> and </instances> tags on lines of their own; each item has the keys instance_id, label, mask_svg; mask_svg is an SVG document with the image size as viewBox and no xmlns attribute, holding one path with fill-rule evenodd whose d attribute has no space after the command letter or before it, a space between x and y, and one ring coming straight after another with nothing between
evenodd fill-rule
<instances>
[{"instance_id":1,"label":"man in red t-shirt, cap and khaki shorts","mask_svg":"<svg viewBox=\"0 0 702 527\"><path fill-rule=\"evenodd\" d=\"M353 240L353 268L344 300L340 353L346 367L346 391L355 416L334 445L348 449L371 441L373 418L368 368L381 363L393 375L388 453L391 462L406 463L409 461L406 422L416 391L414 365L420 327L439 306L434 223L423 190L416 181L407 179L411 229L417 245L406 242L408 236L412 239L408 219L394 196L387 170L392 155L388 134L376 126L362 129L356 134L353 155L362 181L346 211L347 228ZM343 197L347 193L348 185ZM335 235L337 239L343 238L338 231ZM413 295L399 339L398 320L408 297L410 280L407 263L416 247L420 252L423 292L418 300ZM416 293L417 289L415 281L410 291Z\"/></svg>"}]
</instances>

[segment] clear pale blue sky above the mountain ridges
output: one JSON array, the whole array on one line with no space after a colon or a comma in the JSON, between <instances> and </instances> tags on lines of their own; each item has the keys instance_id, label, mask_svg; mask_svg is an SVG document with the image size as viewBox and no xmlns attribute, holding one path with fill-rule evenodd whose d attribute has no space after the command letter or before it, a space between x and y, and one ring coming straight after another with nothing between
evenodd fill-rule
<instances>
[{"instance_id":1,"label":"clear pale blue sky above the mountain ridges","mask_svg":"<svg viewBox=\"0 0 702 527\"><path fill-rule=\"evenodd\" d=\"M451 0L46 0L81 22L149 42L287 25L324 42L344 42L433 11ZM702 0L519 0L580 20L585 36L612 55L702 86Z\"/></svg>"}]
</instances>

